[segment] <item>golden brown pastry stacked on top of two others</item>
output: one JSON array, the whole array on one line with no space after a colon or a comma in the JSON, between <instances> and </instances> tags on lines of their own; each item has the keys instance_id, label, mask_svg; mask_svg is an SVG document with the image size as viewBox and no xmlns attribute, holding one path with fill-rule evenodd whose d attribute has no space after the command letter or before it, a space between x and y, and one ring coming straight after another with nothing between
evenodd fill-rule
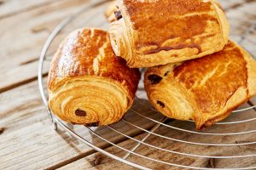
<instances>
[{"instance_id":1,"label":"golden brown pastry stacked on top of two others","mask_svg":"<svg viewBox=\"0 0 256 170\"><path fill-rule=\"evenodd\" d=\"M123 0L110 26L113 51L130 67L165 65L213 54L230 25L216 0Z\"/></svg>"}]
</instances>

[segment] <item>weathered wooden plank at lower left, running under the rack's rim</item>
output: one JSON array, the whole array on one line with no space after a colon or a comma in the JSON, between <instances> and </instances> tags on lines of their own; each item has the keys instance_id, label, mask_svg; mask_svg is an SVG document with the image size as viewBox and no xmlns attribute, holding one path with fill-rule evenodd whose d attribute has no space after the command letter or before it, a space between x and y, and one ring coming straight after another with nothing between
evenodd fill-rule
<instances>
[{"instance_id":1,"label":"weathered wooden plank at lower left, running under the rack's rim","mask_svg":"<svg viewBox=\"0 0 256 170\"><path fill-rule=\"evenodd\" d=\"M142 105L137 102L135 107L141 108ZM148 116L154 116L156 119L162 117L155 115L148 105L143 108L143 112ZM147 129L154 125L153 122L139 119L134 113L129 113L126 117L143 124ZM125 122L120 122L113 127L131 136L142 133L124 124ZM0 127L3 129L0 134L0 169L39 169L56 164L65 165L94 152L86 144L70 138L61 128L57 132L52 129L38 93L38 82L30 82L0 94ZM75 126L73 129L98 147L108 147L102 140L91 136L85 127ZM111 132L108 128L98 127L96 131L112 139L114 143L125 140L123 136Z\"/></svg>"}]
</instances>

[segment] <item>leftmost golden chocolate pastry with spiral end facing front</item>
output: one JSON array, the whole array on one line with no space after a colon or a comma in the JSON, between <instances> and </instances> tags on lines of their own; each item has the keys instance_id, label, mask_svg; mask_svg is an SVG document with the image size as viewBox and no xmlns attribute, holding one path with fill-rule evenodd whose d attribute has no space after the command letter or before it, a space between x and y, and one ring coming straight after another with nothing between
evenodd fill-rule
<instances>
[{"instance_id":1,"label":"leftmost golden chocolate pastry with spiral end facing front","mask_svg":"<svg viewBox=\"0 0 256 170\"><path fill-rule=\"evenodd\" d=\"M107 31L79 29L63 42L49 71L49 108L66 122L118 122L133 102L140 72L117 58Z\"/></svg>"}]
</instances>

